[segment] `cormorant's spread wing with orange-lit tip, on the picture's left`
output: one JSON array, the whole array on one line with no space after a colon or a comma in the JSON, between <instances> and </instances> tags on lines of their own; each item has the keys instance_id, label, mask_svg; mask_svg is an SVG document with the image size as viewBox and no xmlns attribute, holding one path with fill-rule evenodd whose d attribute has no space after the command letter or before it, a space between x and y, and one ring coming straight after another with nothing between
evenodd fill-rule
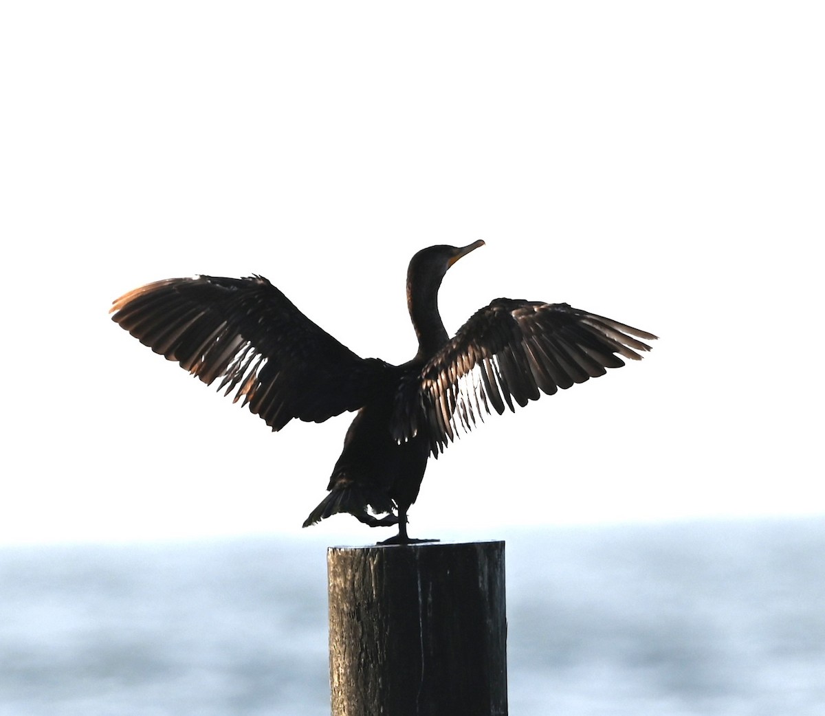
<instances>
[{"instance_id":1,"label":"cormorant's spread wing with orange-lit tip, on the picture's left","mask_svg":"<svg viewBox=\"0 0 825 716\"><path fill-rule=\"evenodd\" d=\"M322 422L368 401L389 365L362 359L263 278L195 276L141 286L115 300L112 320L145 346L281 430Z\"/></svg>"}]
</instances>

